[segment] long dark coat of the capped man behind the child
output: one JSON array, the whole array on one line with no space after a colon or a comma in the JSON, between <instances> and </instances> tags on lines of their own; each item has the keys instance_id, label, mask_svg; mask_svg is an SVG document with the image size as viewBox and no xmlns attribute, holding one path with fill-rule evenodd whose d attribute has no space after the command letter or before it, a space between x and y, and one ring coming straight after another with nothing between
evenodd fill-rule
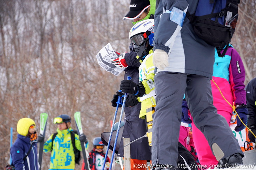
<instances>
[{"instance_id":1,"label":"long dark coat of the capped man behind the child","mask_svg":"<svg viewBox=\"0 0 256 170\"><path fill-rule=\"evenodd\" d=\"M130 46L130 53L126 53L124 59L129 67L124 69L124 80L127 80L127 76L132 77L132 80L137 84L139 83L139 66L141 62L137 61L136 52L132 52L132 47ZM128 94L130 95L130 94ZM140 119L141 103L139 102L132 108L124 108L125 113L125 124L122 137L130 138L133 141L141 136L144 136L147 132L146 119ZM131 158L138 160L151 160L151 151L148 144L148 138L142 138L130 145ZM123 157L123 140L120 142L120 149L118 151L118 156Z\"/></svg>"}]
</instances>

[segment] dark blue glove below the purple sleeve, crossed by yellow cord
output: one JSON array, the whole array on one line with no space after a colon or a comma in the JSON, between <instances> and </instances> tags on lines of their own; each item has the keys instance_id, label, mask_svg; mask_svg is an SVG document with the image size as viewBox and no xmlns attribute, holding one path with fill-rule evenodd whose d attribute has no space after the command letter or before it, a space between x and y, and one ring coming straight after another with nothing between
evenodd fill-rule
<instances>
[{"instance_id":1,"label":"dark blue glove below the purple sleeve, crossed by yellow cord","mask_svg":"<svg viewBox=\"0 0 256 170\"><path fill-rule=\"evenodd\" d=\"M237 107L235 110L236 110L238 116L243 121L243 123L246 125L247 124L247 114L248 114L247 106L242 105L242 106ZM236 132L240 132L245 128L245 126L242 124L241 120L238 117L236 118L236 125L237 125L235 127Z\"/></svg>"}]
</instances>

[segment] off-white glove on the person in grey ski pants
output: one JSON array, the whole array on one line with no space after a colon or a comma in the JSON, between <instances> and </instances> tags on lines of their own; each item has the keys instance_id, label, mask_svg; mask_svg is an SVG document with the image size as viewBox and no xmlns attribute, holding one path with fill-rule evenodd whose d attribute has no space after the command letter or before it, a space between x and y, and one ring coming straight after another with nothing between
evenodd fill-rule
<instances>
[{"instance_id":1,"label":"off-white glove on the person in grey ski pants","mask_svg":"<svg viewBox=\"0 0 256 170\"><path fill-rule=\"evenodd\" d=\"M163 70L167 66L169 66L168 62L168 54L167 52L160 50L160 49L155 49L153 53L153 64L155 67L159 68L160 70Z\"/></svg>"}]
</instances>

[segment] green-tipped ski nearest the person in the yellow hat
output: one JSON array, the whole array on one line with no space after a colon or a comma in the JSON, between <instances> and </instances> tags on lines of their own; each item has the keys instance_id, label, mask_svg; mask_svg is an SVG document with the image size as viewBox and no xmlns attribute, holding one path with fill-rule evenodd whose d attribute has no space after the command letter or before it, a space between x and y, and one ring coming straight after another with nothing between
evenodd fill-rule
<instances>
[{"instance_id":1,"label":"green-tipped ski nearest the person in the yellow hat","mask_svg":"<svg viewBox=\"0 0 256 170\"><path fill-rule=\"evenodd\" d=\"M46 124L47 124L48 114L47 113L41 113L40 114L40 134L39 136L45 138L45 130L46 130ZM39 151L38 151L38 163L40 165L39 170L41 170L42 165L42 156L43 156L43 143L45 141L39 143Z\"/></svg>"}]
</instances>

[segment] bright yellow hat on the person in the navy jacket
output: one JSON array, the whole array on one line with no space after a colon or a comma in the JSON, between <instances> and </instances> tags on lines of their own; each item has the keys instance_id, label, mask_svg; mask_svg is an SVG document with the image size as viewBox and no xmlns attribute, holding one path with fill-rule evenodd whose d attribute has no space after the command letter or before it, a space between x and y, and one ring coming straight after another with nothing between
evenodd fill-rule
<instances>
[{"instance_id":1,"label":"bright yellow hat on the person in the navy jacket","mask_svg":"<svg viewBox=\"0 0 256 170\"><path fill-rule=\"evenodd\" d=\"M29 126L35 125L34 120L31 118L22 118L17 123L17 132L22 136L27 136Z\"/></svg>"}]
</instances>

